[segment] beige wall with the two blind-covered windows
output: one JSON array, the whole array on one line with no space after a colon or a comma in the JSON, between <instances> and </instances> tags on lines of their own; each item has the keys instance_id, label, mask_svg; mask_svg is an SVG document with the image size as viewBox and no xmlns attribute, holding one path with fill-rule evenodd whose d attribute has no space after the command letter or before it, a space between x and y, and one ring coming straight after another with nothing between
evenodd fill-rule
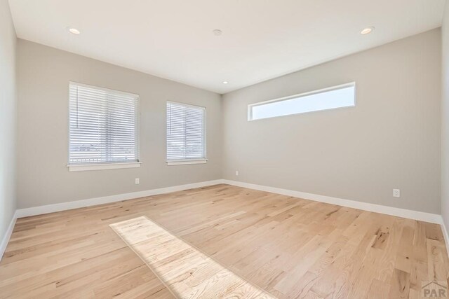
<instances>
[{"instance_id":1,"label":"beige wall with the two blind-covered windows","mask_svg":"<svg viewBox=\"0 0 449 299\"><path fill-rule=\"evenodd\" d=\"M140 168L68 171L69 81L140 95ZM213 92L19 39L18 97L20 209L221 179L221 97ZM206 107L208 163L166 166L166 101Z\"/></svg>"}]
</instances>

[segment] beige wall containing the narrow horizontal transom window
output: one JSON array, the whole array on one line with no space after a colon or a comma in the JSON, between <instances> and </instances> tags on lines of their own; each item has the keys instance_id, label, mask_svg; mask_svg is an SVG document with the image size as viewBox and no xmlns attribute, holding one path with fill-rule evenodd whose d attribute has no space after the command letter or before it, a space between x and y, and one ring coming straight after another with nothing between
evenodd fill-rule
<instances>
[{"instance_id":1,"label":"beige wall containing the narrow horizontal transom window","mask_svg":"<svg viewBox=\"0 0 449 299\"><path fill-rule=\"evenodd\" d=\"M351 81L355 108L247 121L248 104ZM434 29L224 95L223 176L439 214L440 109Z\"/></svg>"}]
</instances>

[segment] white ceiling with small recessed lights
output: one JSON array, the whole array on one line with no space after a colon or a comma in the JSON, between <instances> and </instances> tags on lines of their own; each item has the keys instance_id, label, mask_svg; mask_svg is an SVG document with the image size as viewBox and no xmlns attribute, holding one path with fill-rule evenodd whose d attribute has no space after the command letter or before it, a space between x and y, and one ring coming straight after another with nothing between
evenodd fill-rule
<instances>
[{"instance_id":1,"label":"white ceiling with small recessed lights","mask_svg":"<svg viewBox=\"0 0 449 299\"><path fill-rule=\"evenodd\" d=\"M225 93L440 27L445 0L9 3L20 39Z\"/></svg>"}]
</instances>

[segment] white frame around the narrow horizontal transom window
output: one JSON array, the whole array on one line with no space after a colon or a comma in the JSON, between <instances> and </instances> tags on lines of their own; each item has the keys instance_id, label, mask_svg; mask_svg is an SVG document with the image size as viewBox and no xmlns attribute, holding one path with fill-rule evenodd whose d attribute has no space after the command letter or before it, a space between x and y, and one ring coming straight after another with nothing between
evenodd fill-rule
<instances>
[{"instance_id":1,"label":"white frame around the narrow horizontal transom window","mask_svg":"<svg viewBox=\"0 0 449 299\"><path fill-rule=\"evenodd\" d=\"M275 102L283 102L283 101L287 101L289 99L297 99L297 98L301 98L301 97L307 97L310 95L317 95L320 93L324 93L324 92L330 92L333 90L341 90L344 88L349 88L349 87L353 87L354 88L354 105L351 106L342 106L342 107L335 107L335 108L328 108L328 109L320 109L320 110L314 110L314 111L304 111L304 112L297 112L297 113L291 113L291 114L284 114L284 115L279 115L279 116L270 116L267 118L255 118L253 119L253 107L255 106L262 106L265 104L272 104ZM310 92L302 92L300 94L297 95L289 95L287 97L280 97L277 99L269 99L268 101L264 101L264 102L257 102L257 103L253 103L253 104L248 104L248 121L255 121L255 120L266 120L269 118L280 118L283 116L295 116L297 114L303 114L303 113L312 113L312 112L319 112L319 111L328 111L328 110L335 110L335 109L345 109L345 108L351 108L351 107L355 107L356 106L356 82L349 82L349 83L344 83L344 84L340 84L340 85L334 85L334 86L330 86L328 88L321 88L319 90L312 90Z\"/></svg>"}]
</instances>

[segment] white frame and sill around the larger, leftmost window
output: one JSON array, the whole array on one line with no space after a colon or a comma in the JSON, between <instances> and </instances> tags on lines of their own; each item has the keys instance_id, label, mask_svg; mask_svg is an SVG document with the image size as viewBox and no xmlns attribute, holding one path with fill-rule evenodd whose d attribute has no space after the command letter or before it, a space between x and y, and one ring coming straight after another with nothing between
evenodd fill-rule
<instances>
[{"instance_id":1,"label":"white frame and sill around the larger, leftmost window","mask_svg":"<svg viewBox=\"0 0 449 299\"><path fill-rule=\"evenodd\" d=\"M133 96L133 97L137 97L137 104L136 104L136 116L135 116L135 152L136 152L136 160L137 161L133 161L133 162L112 162L112 161L107 161L107 162L92 162L92 163L71 163L70 162L70 134L71 134L71 130L70 130L70 85L76 85L76 86L81 86L81 87L86 87L86 88L92 88L95 90L102 90L105 92L111 92L111 93L115 93L115 94L121 94L121 95L127 95L127 96ZM133 92L124 92L121 90L113 90L110 88L103 88L100 86L95 86L95 85L88 85L85 83L79 83L79 82L75 82L75 81L69 81L69 85L68 85L68 89L67 89L67 93L68 93L68 98L69 98L69 105L68 105L68 109L67 109L67 123L68 123L68 127L67 127L67 168L69 169L69 172L81 172L81 171L90 171L90 170L103 170L103 169L122 169L122 168L137 168L140 167L140 165L142 164L141 160L140 160L140 95L135 94Z\"/></svg>"}]
</instances>

